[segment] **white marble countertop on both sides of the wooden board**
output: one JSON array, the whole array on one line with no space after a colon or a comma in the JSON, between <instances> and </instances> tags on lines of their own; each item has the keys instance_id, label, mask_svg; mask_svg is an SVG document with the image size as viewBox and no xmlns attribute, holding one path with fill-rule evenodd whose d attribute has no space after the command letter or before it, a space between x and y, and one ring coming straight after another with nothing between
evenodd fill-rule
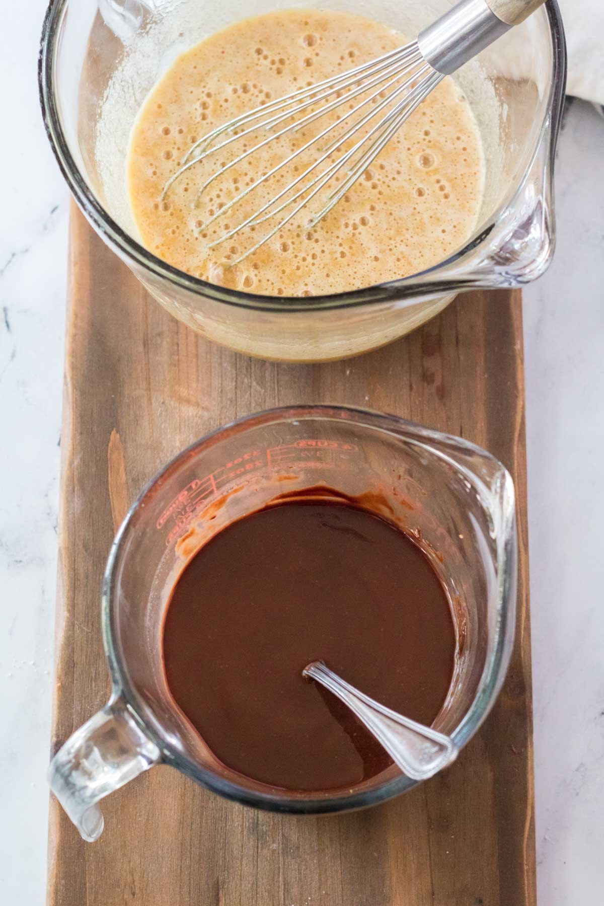
<instances>
[{"instance_id":1,"label":"white marble countertop on both sides of the wooden board","mask_svg":"<svg viewBox=\"0 0 604 906\"><path fill-rule=\"evenodd\" d=\"M0 879L23 906L44 901L69 207L38 110L44 5L0 0ZM573 102L555 261L524 293L539 906L604 882L602 149Z\"/></svg>"}]
</instances>

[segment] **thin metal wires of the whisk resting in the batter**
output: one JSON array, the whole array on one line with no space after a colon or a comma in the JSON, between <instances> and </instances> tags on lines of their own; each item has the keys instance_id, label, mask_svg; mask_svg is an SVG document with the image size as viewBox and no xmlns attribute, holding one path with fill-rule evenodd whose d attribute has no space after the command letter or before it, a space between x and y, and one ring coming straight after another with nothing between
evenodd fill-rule
<instances>
[{"instance_id":1,"label":"thin metal wires of the whisk resting in the batter","mask_svg":"<svg viewBox=\"0 0 604 906\"><path fill-rule=\"evenodd\" d=\"M397 84L403 78L405 81ZM379 151L384 148L395 132L400 129L403 122L407 120L407 117L410 116L427 93L431 92L442 78L443 76L432 69L429 63L425 61L419 51L417 42L414 42L408 44L406 47L385 53L383 56L370 61L369 63L363 63L348 72L342 72L332 76L331 79L327 79L324 82L307 86L297 92L292 92L283 98L257 107L253 111L244 113L239 117L235 117L234 120L230 120L229 122L216 127L215 130L210 131L202 139L196 141L192 147L188 149L181 167L168 179L163 188L161 198L166 197L169 189L177 178L181 177L188 169L191 169L197 163L200 163L201 160L206 159L210 154L215 154L217 151L227 148L235 141L243 140L246 136L257 132L260 129L273 130L275 126L280 125L285 120L291 119L293 116L296 116L309 107L314 108L318 103L326 101L333 94L336 95L333 101L328 102L319 110L311 110L303 116L302 119L294 120L294 122L284 126L283 129L273 131L271 135L257 142L252 148L245 149L242 154L237 155L234 159L228 161L228 163L223 164L215 173L207 178L198 189L193 202L193 207L196 207L199 199L206 191L206 188L208 188L217 178L223 176L225 172L242 163L245 159L253 155L254 152L263 149L269 142L282 138L289 132L302 130L315 120L336 110L342 104L350 103L350 101L353 101L360 95L366 95L360 103L356 104L349 111L340 116L337 123L330 123L324 130L321 130L318 135L303 143L299 149L292 151L292 153L280 163L270 169L267 173L264 173L259 178L255 179L254 182L243 191L239 192L235 198L232 198L225 205L218 208L216 213L212 214L209 219L198 227L200 231L206 230L206 228L211 226L218 217L224 217L228 211L236 204L243 201L243 199L250 195L254 189L261 186L267 179L272 178L288 164L291 164L292 161L298 158L304 151L312 148L313 145L324 139L334 130L334 128L340 126L345 120L355 116L368 104L375 104L375 106L372 106L358 122L355 122L339 136L336 136L334 140L331 140L330 143L322 149L319 158L313 161L309 167L304 169L299 176L292 179L292 181L281 189L277 195L265 202L262 207L255 210L249 217L244 218L237 226L228 229L222 236L218 236L213 242L207 243L208 248L219 246L227 239L235 236L235 234L239 233L246 226L255 228L255 226L264 223L266 220L276 217L285 208L295 205L286 217L283 217L283 219L273 226L265 236L251 248L248 248L243 255L240 255L235 261L229 261L230 265L240 264L245 258L249 255L253 255L261 246L264 246L264 243L275 236L283 226L286 226L286 224L302 210L302 207L305 207L312 198L315 198L315 196L321 192L321 189L328 184L331 178L335 177L349 161L354 159L361 149L364 149L360 155L360 159L358 159L351 167L349 174L344 179L342 185L331 193L327 199L327 204L321 208L318 214L310 219L308 226L310 228L316 226L321 218L325 217L331 211L331 208L340 201L340 198L347 193L353 183L360 178L362 173L369 167L370 163L377 157ZM376 90L371 91L372 89ZM388 92L389 89L393 90L384 97L385 92ZM343 94L342 92L346 93ZM367 92L371 93L368 94ZM407 94L405 92L407 92ZM400 95L403 95L402 100L396 102ZM379 98L381 98L381 100L378 103L375 103ZM373 120L381 111L384 111L385 108L392 104L394 104L394 107L391 107L383 119L372 126L367 134L361 136L352 148L347 150L340 159L329 164L329 166L313 178L310 183L302 185L302 188L293 195L290 194L292 190L299 186L305 178L310 176L315 169L321 167L322 163L330 159L331 155L338 151L345 142L350 140L350 138L362 130L370 120ZM237 131L242 126L248 128L244 128L243 132ZM232 133L228 139L217 145L213 144L217 138L227 131ZM195 156L192 157L194 154ZM289 198L285 198L281 204L278 204L282 198L288 195L290 196ZM302 200L298 204L295 204L298 199ZM275 205L277 207L275 207Z\"/></svg>"}]
</instances>

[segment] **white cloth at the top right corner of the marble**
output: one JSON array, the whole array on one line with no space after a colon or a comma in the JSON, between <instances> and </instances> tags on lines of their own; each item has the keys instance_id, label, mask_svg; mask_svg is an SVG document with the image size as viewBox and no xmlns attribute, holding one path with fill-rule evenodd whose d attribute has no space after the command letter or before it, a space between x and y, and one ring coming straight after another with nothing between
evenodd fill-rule
<instances>
[{"instance_id":1,"label":"white cloth at the top right corner of the marble","mask_svg":"<svg viewBox=\"0 0 604 906\"><path fill-rule=\"evenodd\" d=\"M558 0L569 51L568 94L604 104L604 0Z\"/></svg>"}]
</instances>

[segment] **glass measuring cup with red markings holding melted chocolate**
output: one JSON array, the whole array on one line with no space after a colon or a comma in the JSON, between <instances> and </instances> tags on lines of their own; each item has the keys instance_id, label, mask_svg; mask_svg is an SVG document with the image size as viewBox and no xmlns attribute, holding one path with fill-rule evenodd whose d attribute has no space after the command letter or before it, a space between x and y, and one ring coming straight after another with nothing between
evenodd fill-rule
<instances>
[{"instance_id":1,"label":"glass measuring cup with red markings holding melted chocolate","mask_svg":"<svg viewBox=\"0 0 604 906\"><path fill-rule=\"evenodd\" d=\"M328 406L262 412L172 460L143 490L111 546L102 629L112 694L49 770L53 792L84 839L101 834L99 800L158 762L227 798L298 814L372 805L415 786L395 766L352 791L265 786L212 755L166 686L162 618L190 557L221 527L284 490L321 484L348 496L369 493L371 507L412 533L430 556L457 636L454 678L433 726L455 747L480 726L513 645L516 532L506 470L465 440L393 416Z\"/></svg>"}]
</instances>

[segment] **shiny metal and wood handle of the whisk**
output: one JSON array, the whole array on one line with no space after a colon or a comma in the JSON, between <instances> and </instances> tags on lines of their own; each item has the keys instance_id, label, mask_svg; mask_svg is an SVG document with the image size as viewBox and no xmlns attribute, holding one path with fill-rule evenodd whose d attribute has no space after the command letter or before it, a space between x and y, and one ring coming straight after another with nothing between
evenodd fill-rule
<instances>
[{"instance_id":1,"label":"shiny metal and wood handle of the whisk","mask_svg":"<svg viewBox=\"0 0 604 906\"><path fill-rule=\"evenodd\" d=\"M544 0L461 0L418 35L419 50L436 72L450 75L542 3Z\"/></svg>"}]
</instances>

